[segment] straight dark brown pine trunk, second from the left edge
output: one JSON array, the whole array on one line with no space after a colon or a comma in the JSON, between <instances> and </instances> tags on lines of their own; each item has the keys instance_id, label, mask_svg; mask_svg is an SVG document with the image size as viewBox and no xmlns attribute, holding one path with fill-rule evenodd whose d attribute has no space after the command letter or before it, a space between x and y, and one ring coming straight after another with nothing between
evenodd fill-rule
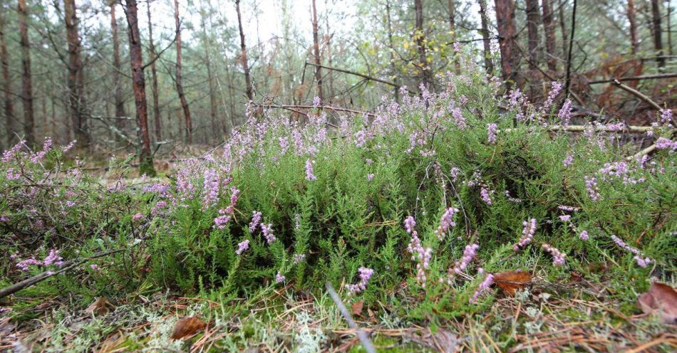
<instances>
[{"instance_id":1,"label":"straight dark brown pine trunk, second from the left edge","mask_svg":"<svg viewBox=\"0 0 677 353\"><path fill-rule=\"evenodd\" d=\"M33 117L33 82L31 79L31 43L29 41L29 13L26 0L19 0L19 43L21 45L21 102L24 105L24 139L35 145L35 118Z\"/></svg>"}]
</instances>

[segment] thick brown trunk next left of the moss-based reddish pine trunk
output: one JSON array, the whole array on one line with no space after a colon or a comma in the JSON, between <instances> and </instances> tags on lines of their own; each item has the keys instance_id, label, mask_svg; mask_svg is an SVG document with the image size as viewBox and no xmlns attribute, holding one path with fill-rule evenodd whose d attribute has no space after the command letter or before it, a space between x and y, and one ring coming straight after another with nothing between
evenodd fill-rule
<instances>
[{"instance_id":1,"label":"thick brown trunk next left of the moss-based reddish pine trunk","mask_svg":"<svg viewBox=\"0 0 677 353\"><path fill-rule=\"evenodd\" d=\"M78 14L75 0L63 0L64 23L68 40L68 110L73 122L73 134L78 144L88 147L90 144L87 117L84 110L84 80L81 58L80 33L78 33Z\"/></svg>"}]
</instances>

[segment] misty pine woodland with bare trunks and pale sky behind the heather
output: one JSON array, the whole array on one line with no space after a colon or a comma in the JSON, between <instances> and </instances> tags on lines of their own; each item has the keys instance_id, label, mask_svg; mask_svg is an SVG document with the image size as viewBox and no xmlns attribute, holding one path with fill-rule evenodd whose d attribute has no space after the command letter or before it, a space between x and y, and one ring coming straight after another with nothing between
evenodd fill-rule
<instances>
[{"instance_id":1,"label":"misty pine woodland with bare trunks and pale sky behind the heather","mask_svg":"<svg viewBox=\"0 0 677 353\"><path fill-rule=\"evenodd\" d=\"M1 0L1 146L50 136L150 161L155 152L222 142L256 107L298 118L318 97L321 105L373 111L383 95L398 99L400 87L439 89L439 74L460 68L457 50L532 102L559 80L577 112L648 125L656 117L651 102L677 100L674 7L662 0ZM646 99L604 81L647 75L624 81Z\"/></svg>"}]
</instances>

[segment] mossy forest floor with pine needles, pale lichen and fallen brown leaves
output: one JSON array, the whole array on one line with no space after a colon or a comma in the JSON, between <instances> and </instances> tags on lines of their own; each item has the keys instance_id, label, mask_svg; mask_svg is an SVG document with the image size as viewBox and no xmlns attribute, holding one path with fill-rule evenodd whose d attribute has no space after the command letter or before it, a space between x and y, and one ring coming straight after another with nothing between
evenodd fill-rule
<instances>
[{"instance_id":1,"label":"mossy forest floor with pine needles, pale lichen and fallen brown leaves","mask_svg":"<svg viewBox=\"0 0 677 353\"><path fill-rule=\"evenodd\" d=\"M510 288L500 290L482 312L425 327L382 302L373 308L353 302L350 310L377 352L674 352L677 326L618 300L638 293L606 278L606 264L595 266L589 274L595 280L572 272L549 283L534 275L515 285L514 297ZM147 289L100 297L89 307L68 296L15 297L26 304L16 312L23 330L0 319L0 351L367 352L326 293L294 293L290 284L219 302ZM402 293L391 295L418 299ZM184 337L172 339L177 335Z\"/></svg>"}]
</instances>

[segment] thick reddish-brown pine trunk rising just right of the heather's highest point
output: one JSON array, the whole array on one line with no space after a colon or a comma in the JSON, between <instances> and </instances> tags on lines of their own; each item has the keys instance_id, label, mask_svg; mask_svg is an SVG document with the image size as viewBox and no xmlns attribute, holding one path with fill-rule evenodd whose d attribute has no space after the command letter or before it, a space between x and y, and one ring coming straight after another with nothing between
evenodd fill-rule
<instances>
[{"instance_id":1,"label":"thick reddish-brown pine trunk rising just right of the heather's highest point","mask_svg":"<svg viewBox=\"0 0 677 353\"><path fill-rule=\"evenodd\" d=\"M501 51L501 75L508 87L515 81L515 4L512 0L495 0L498 44Z\"/></svg>"}]
</instances>

